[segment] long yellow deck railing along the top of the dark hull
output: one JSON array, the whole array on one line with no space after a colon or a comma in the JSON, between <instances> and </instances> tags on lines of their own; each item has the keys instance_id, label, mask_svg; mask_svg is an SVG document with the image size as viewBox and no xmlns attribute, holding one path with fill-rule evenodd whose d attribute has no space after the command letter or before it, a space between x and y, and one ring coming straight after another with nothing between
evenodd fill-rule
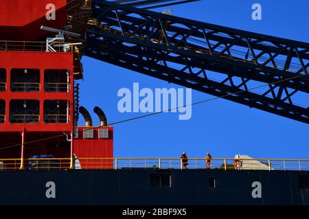
<instances>
[{"instance_id":1,"label":"long yellow deck railing along the top of the dark hull","mask_svg":"<svg viewBox=\"0 0 309 219\"><path fill-rule=\"evenodd\" d=\"M242 165L236 166L235 161ZM75 159L76 169L114 169L121 168L158 168L158 169L205 169L206 158L188 158L188 167L183 166L177 157L79 157ZM0 170L18 170L21 159L0 159ZM30 165L31 164L31 165ZM25 166L31 169L63 169L69 168L70 158L30 158L25 159ZM78 165L77 165L78 164ZM1 166L2 165L2 166ZM309 159L234 159L213 158L211 169L221 170L309 170Z\"/></svg>"}]
</instances>

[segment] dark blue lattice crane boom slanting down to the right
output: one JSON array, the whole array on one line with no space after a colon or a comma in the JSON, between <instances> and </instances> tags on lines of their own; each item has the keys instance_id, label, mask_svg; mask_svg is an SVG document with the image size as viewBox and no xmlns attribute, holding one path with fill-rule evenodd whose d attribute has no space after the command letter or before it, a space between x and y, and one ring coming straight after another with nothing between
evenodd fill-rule
<instances>
[{"instance_id":1,"label":"dark blue lattice crane boom slanting down to the right","mask_svg":"<svg viewBox=\"0 0 309 219\"><path fill-rule=\"evenodd\" d=\"M308 43L92 3L85 55L309 123ZM209 70L224 79L210 78ZM253 92L256 86L267 89Z\"/></svg>"}]
</instances>

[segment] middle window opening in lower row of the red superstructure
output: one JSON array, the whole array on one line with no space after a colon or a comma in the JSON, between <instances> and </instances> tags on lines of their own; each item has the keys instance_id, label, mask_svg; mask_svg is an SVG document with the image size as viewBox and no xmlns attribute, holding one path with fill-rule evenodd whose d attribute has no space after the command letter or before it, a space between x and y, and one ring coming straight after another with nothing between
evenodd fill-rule
<instances>
[{"instance_id":1,"label":"middle window opening in lower row of the red superstructure","mask_svg":"<svg viewBox=\"0 0 309 219\"><path fill-rule=\"evenodd\" d=\"M10 101L10 123L38 123L40 102L36 100Z\"/></svg>"}]
</instances>

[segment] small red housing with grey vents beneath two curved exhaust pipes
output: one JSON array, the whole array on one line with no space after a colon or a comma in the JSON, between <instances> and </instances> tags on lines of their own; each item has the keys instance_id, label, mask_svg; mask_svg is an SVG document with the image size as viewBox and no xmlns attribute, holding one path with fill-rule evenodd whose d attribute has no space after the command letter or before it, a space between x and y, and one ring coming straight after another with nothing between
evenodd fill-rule
<instances>
[{"instance_id":1,"label":"small red housing with grey vents beneath two curved exhaust pipes","mask_svg":"<svg viewBox=\"0 0 309 219\"><path fill-rule=\"evenodd\" d=\"M111 158L113 157L113 127L104 127L108 129L108 138L98 138L98 127L93 127L93 139L83 138L83 129L89 129L89 127L78 127L78 138L74 139L74 154L78 158ZM102 129L102 127L100 127ZM94 162L98 162L94 164ZM80 159L82 168L113 168L113 160L106 159L102 162L102 159Z\"/></svg>"}]
</instances>

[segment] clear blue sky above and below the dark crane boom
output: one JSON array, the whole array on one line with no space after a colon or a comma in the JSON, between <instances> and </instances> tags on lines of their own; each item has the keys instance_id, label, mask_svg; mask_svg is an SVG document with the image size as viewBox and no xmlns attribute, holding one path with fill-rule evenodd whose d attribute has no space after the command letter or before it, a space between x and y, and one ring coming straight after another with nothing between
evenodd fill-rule
<instances>
[{"instance_id":1,"label":"clear blue sky above and below the dark crane boom","mask_svg":"<svg viewBox=\"0 0 309 219\"><path fill-rule=\"evenodd\" d=\"M262 5L262 21L251 19L251 5ZM165 9L175 16L234 27L261 34L309 42L308 0L202 0ZM160 9L163 11L163 9ZM157 10L157 11L160 11ZM143 115L119 113L120 88L181 88L175 84L83 57L84 81L80 103L92 113L98 105L113 122ZM212 96L192 92L192 101ZM307 96L308 98L308 96ZM308 106L309 100L300 100ZM309 126L275 114L217 99L192 108L190 120L178 114L159 114L114 126L115 157L233 157L240 153L254 158L309 158Z\"/></svg>"}]
</instances>

